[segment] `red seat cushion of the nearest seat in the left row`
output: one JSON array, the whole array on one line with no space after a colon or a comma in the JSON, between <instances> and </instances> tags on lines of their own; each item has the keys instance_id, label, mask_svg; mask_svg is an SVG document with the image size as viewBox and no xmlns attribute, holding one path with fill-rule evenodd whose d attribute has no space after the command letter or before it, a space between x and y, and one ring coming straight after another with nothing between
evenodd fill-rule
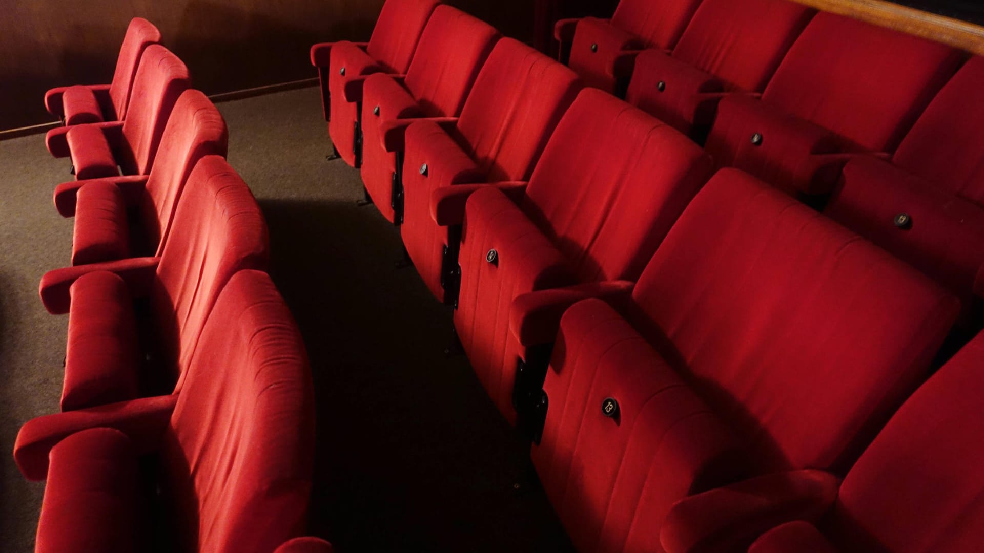
<instances>
[{"instance_id":1,"label":"red seat cushion of the nearest seat in the left row","mask_svg":"<svg viewBox=\"0 0 984 553\"><path fill-rule=\"evenodd\" d=\"M51 449L34 551L137 551L137 457L125 434L92 428Z\"/></svg>"}]
</instances>

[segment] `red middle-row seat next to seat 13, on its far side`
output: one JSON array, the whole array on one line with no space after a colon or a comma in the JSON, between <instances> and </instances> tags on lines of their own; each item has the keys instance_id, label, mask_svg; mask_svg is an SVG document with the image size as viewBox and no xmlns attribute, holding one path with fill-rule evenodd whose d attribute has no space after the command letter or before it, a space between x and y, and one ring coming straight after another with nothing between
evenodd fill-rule
<instances>
[{"instance_id":1,"label":"red middle-row seat next to seat 13, on its far side","mask_svg":"<svg viewBox=\"0 0 984 553\"><path fill-rule=\"evenodd\" d=\"M509 331L513 299L543 288L635 279L710 171L707 154L676 130L611 94L586 89L561 119L524 191L511 192L511 200L484 186L468 197L455 328L507 419L516 420L514 381L525 358Z\"/></svg>"}]
</instances>

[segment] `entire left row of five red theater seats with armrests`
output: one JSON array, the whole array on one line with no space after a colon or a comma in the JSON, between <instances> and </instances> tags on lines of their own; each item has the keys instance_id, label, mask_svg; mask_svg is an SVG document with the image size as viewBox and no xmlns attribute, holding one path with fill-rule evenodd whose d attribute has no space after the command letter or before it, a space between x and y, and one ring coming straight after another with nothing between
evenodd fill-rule
<instances>
[{"instance_id":1,"label":"entire left row of five red theater seats with armrests","mask_svg":"<svg viewBox=\"0 0 984 553\"><path fill-rule=\"evenodd\" d=\"M296 537L314 398L266 222L221 115L159 38L133 20L112 85L45 98L66 122L48 148L78 180L54 193L75 217L72 267L40 283L69 316L62 412L14 448L47 480L35 550L330 551Z\"/></svg>"}]
</instances>

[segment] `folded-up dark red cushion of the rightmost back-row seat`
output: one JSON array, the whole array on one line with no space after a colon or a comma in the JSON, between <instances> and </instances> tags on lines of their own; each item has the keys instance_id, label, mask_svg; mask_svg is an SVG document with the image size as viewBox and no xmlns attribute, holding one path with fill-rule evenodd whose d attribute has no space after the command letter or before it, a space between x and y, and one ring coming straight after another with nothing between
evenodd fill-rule
<instances>
[{"instance_id":1,"label":"folded-up dark red cushion of the rightmost back-row seat","mask_svg":"<svg viewBox=\"0 0 984 553\"><path fill-rule=\"evenodd\" d=\"M844 167L825 212L950 288L969 307L984 295L984 208L887 161ZM896 216L908 220L896 224Z\"/></svg>"}]
</instances>

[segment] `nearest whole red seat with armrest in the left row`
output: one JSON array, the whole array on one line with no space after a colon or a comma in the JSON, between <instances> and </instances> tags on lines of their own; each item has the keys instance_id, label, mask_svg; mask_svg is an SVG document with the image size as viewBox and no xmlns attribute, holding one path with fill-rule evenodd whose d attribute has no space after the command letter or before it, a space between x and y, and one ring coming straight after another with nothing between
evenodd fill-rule
<instances>
[{"instance_id":1,"label":"nearest whole red seat with armrest in the left row","mask_svg":"<svg viewBox=\"0 0 984 553\"><path fill-rule=\"evenodd\" d=\"M48 480L36 551L269 553L303 533L314 398L304 344L270 276L229 279L187 375L180 394L21 429L15 460L29 479ZM148 454L158 469L142 480L138 456ZM162 504L153 523L152 490Z\"/></svg>"}]
</instances>

